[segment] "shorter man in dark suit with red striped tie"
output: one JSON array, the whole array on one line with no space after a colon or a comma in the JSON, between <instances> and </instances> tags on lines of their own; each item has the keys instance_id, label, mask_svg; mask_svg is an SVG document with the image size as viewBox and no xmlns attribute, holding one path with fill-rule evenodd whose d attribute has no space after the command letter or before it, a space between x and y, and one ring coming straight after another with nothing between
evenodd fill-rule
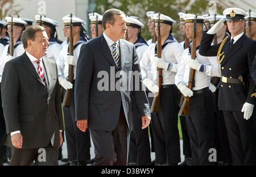
<instances>
[{"instance_id":1,"label":"shorter man in dark suit with red striped tie","mask_svg":"<svg viewBox=\"0 0 256 177\"><path fill-rule=\"evenodd\" d=\"M56 64L42 58L49 45L45 28L28 27L22 43L26 52L6 63L1 82L10 165L58 165L63 117Z\"/></svg>"}]
</instances>

